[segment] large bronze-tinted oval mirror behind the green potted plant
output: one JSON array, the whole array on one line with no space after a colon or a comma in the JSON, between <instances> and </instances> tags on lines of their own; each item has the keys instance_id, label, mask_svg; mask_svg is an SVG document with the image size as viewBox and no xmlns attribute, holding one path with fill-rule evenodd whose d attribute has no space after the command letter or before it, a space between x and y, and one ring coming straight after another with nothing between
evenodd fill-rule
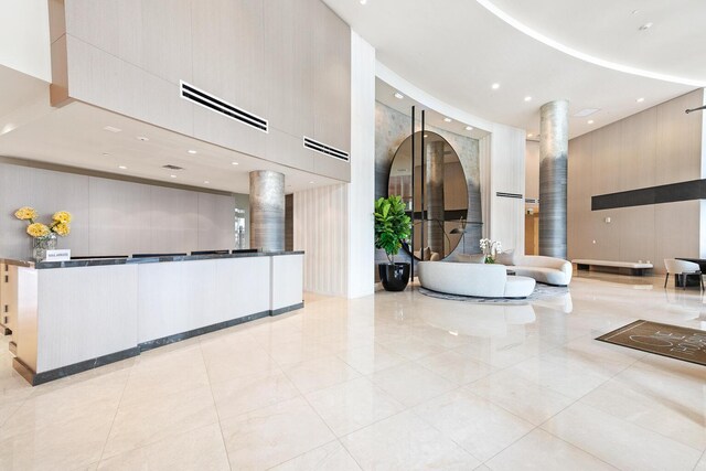
<instances>
[{"instance_id":1,"label":"large bronze-tinted oval mirror behind the green potted plant","mask_svg":"<svg viewBox=\"0 0 706 471\"><path fill-rule=\"evenodd\" d=\"M411 140L415 139L415 159ZM415 132L397 148L389 170L387 193L400 195L414 223L411 251L419 260L440 260L461 242L468 218L468 183L459 156L436 132ZM420 151L421 149L421 151ZM424 169L421 154L424 153ZM414 208L413 208L414 174ZM421 179L424 174L424 185ZM424 214L421 202L424 197ZM456 231L454 231L456 229ZM404 246L404 245L403 245ZM409 247L404 246L407 251Z\"/></svg>"}]
</instances>

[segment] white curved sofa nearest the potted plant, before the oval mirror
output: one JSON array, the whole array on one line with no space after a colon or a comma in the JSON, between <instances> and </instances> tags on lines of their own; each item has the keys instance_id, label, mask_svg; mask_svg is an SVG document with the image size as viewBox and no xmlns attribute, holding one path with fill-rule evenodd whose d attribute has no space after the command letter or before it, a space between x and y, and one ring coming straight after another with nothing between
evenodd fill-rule
<instances>
[{"instance_id":1,"label":"white curved sofa nearest the potted plant, before the oval mirror","mask_svg":"<svg viewBox=\"0 0 706 471\"><path fill-rule=\"evenodd\" d=\"M479 298L526 298L534 291L535 280L507 276L504 265L420 261L419 282L434 291Z\"/></svg>"}]
</instances>

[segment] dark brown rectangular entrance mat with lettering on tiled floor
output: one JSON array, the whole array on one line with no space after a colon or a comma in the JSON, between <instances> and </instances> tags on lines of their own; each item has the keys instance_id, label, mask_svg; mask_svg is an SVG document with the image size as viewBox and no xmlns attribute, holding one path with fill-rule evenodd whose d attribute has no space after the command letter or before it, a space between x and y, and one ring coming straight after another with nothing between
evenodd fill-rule
<instances>
[{"instance_id":1,"label":"dark brown rectangular entrance mat with lettering on tiled floor","mask_svg":"<svg viewBox=\"0 0 706 471\"><path fill-rule=\"evenodd\" d=\"M596 340L706 366L706 331L635 321Z\"/></svg>"}]
</instances>

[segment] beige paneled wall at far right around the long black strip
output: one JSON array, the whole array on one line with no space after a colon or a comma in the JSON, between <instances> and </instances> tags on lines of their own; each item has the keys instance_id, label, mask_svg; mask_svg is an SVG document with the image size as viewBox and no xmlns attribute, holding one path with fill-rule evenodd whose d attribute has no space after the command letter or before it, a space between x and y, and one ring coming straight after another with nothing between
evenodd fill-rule
<instances>
[{"instance_id":1,"label":"beige paneled wall at far right around the long black strip","mask_svg":"<svg viewBox=\"0 0 706 471\"><path fill-rule=\"evenodd\" d=\"M703 178L704 90L663 103L569 141L568 256L650 260L706 256L702 202L591 211L591 196ZM610 222L607 222L607 217Z\"/></svg>"}]
</instances>

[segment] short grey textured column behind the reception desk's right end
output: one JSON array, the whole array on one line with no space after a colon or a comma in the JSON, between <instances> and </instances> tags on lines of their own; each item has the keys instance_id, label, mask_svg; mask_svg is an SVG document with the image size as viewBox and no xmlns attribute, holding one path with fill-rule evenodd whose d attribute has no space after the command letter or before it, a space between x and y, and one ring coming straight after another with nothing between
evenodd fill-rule
<instances>
[{"instance_id":1,"label":"short grey textured column behind the reception desk's right end","mask_svg":"<svg viewBox=\"0 0 706 471\"><path fill-rule=\"evenodd\" d=\"M250 172L250 248L285 249L285 175Z\"/></svg>"}]
</instances>

